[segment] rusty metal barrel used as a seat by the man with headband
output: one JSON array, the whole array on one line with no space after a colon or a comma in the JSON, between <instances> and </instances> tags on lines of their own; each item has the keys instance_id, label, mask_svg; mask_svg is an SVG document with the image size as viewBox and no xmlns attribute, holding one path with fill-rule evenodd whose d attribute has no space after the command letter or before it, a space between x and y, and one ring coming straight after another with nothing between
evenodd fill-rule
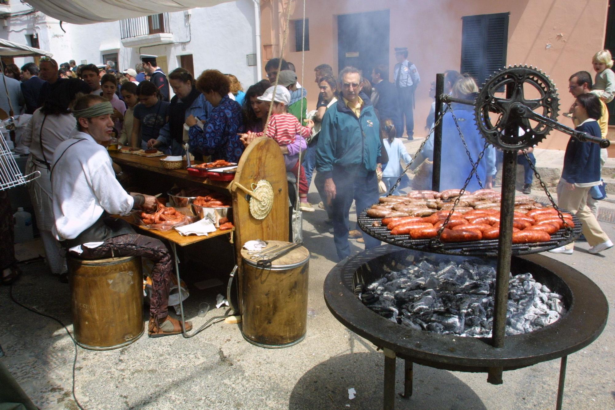
<instances>
[{"instance_id":1,"label":"rusty metal barrel used as a seat by the man with headband","mask_svg":"<svg viewBox=\"0 0 615 410\"><path fill-rule=\"evenodd\" d=\"M74 338L83 348L111 350L143 334L141 258L68 257Z\"/></svg>"}]
</instances>

